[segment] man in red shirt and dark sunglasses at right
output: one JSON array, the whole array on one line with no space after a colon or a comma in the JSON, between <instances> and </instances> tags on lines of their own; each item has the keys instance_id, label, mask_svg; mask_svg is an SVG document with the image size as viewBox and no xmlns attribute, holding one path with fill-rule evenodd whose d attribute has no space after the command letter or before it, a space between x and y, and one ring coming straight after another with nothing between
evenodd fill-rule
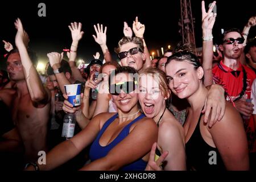
<instances>
[{"instance_id":1,"label":"man in red shirt and dark sunglasses at right","mask_svg":"<svg viewBox=\"0 0 256 182\"><path fill-rule=\"evenodd\" d=\"M253 104L246 102L251 98L251 85L256 76L252 69L240 63L245 41L241 32L233 28L222 36L219 48L223 60L212 69L213 81L224 87L226 100L231 101L242 115L249 151L256 152Z\"/></svg>"}]
</instances>

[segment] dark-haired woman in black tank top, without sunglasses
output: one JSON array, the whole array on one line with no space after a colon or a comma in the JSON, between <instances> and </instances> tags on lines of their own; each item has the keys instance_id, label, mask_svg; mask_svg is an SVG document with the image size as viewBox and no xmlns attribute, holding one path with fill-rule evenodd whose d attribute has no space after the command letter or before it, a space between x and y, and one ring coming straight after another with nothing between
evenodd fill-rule
<instances>
[{"instance_id":1,"label":"dark-haired woman in black tank top, without sunglasses","mask_svg":"<svg viewBox=\"0 0 256 182\"><path fill-rule=\"evenodd\" d=\"M195 170L249 169L248 148L241 115L228 102L224 117L214 126L204 123L204 71L198 58L187 51L168 57L166 75L170 89L190 104L185 131L187 168Z\"/></svg>"}]
</instances>

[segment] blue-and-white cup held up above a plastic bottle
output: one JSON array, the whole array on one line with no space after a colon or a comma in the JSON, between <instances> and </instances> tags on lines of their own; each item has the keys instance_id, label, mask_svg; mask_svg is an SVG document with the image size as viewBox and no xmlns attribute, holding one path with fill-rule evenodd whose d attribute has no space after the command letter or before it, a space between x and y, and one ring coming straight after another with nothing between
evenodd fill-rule
<instances>
[{"instance_id":1,"label":"blue-and-white cup held up above a plastic bottle","mask_svg":"<svg viewBox=\"0 0 256 182\"><path fill-rule=\"evenodd\" d=\"M73 106L81 105L81 84L64 85L65 92L68 96L68 102Z\"/></svg>"}]
</instances>

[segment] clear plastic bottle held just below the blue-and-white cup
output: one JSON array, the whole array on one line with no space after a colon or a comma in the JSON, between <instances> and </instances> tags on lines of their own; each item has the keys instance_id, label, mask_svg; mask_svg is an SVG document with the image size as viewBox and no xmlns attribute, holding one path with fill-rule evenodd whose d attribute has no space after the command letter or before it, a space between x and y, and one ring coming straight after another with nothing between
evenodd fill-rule
<instances>
[{"instance_id":1,"label":"clear plastic bottle held just below the blue-and-white cup","mask_svg":"<svg viewBox=\"0 0 256 182\"><path fill-rule=\"evenodd\" d=\"M62 129L61 137L65 137L66 140L68 140L69 138L72 138L74 135L75 126L76 126L75 114L73 113L65 114L64 120L63 120L63 129Z\"/></svg>"}]
</instances>

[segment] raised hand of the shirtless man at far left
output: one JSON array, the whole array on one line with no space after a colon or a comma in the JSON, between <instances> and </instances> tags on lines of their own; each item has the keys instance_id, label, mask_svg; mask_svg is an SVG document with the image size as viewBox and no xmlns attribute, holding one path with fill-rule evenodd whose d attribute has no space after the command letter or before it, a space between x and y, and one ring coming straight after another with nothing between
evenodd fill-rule
<instances>
[{"instance_id":1,"label":"raised hand of the shirtless man at far left","mask_svg":"<svg viewBox=\"0 0 256 182\"><path fill-rule=\"evenodd\" d=\"M15 44L16 47L19 48L20 46L25 46L27 48L28 42L30 39L28 38L27 32L24 31L22 22L19 18L17 18L14 22L15 28L17 30L16 36L15 36Z\"/></svg>"}]
</instances>

